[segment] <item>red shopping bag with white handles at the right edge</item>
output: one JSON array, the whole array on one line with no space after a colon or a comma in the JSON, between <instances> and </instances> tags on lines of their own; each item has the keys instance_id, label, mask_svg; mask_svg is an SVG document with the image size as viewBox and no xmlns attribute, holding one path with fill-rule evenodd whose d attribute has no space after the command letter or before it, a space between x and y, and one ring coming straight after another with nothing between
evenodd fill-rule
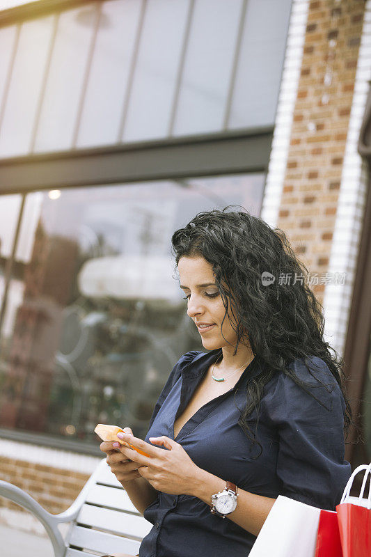
<instances>
[{"instance_id":1,"label":"red shopping bag with white handles at the right edge","mask_svg":"<svg viewBox=\"0 0 371 557\"><path fill-rule=\"evenodd\" d=\"M349 492L354 476L361 470L366 470L361 494L359 497L351 497ZM361 464L354 470L342 494L342 499L336 507L344 557L371 556L371 485L368 499L363 499L366 480L370 472L371 463L369 465Z\"/></svg>"}]
</instances>

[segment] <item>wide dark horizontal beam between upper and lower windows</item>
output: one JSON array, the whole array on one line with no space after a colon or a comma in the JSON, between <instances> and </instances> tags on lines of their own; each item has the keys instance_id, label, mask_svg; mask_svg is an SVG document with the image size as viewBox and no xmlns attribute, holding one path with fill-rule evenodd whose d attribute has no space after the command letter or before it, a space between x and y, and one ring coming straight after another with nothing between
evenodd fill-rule
<instances>
[{"instance_id":1,"label":"wide dark horizontal beam between upper and lower windows","mask_svg":"<svg viewBox=\"0 0 371 557\"><path fill-rule=\"evenodd\" d=\"M0 160L0 193L263 171L271 126Z\"/></svg>"}]
</instances>

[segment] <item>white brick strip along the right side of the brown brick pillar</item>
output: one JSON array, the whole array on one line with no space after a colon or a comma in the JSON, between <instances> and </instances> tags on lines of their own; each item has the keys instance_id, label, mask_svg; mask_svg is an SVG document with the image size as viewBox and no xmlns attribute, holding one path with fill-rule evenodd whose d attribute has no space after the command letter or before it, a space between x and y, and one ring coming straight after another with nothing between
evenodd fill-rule
<instances>
[{"instance_id":1,"label":"white brick strip along the right side of the brown brick pillar","mask_svg":"<svg viewBox=\"0 0 371 557\"><path fill-rule=\"evenodd\" d=\"M357 143L368 96L368 80L371 79L370 30L371 0L367 0L328 269L331 273L346 272L347 275L345 285L326 285L323 303L324 338L341 356L345 347L368 187L367 163L358 154Z\"/></svg>"}]
</instances>

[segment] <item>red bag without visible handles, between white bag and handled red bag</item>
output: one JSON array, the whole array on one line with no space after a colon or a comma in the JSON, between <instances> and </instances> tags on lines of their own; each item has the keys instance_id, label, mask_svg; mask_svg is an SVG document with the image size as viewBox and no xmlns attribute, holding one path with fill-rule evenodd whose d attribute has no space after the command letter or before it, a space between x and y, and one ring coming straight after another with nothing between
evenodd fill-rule
<instances>
[{"instance_id":1,"label":"red bag without visible handles, between white bag and handled red bag","mask_svg":"<svg viewBox=\"0 0 371 557\"><path fill-rule=\"evenodd\" d=\"M335 511L321 509L315 557L342 557L338 515Z\"/></svg>"}]
</instances>

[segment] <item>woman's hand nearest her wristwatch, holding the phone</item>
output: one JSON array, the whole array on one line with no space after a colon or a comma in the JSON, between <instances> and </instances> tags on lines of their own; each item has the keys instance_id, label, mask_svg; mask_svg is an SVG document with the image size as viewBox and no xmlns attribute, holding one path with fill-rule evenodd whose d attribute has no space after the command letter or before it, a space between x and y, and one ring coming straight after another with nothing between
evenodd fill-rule
<instances>
[{"instance_id":1,"label":"woman's hand nearest her wristwatch, holding the phone","mask_svg":"<svg viewBox=\"0 0 371 557\"><path fill-rule=\"evenodd\" d=\"M152 444L159 447L164 446L168 449L164 450L145 443L142 439L130 434L120 433L118 435L123 441L127 441L150 455L150 457L145 457L137 453L136 450L126 446L120 447L121 453L141 465L138 472L157 491L173 495L192 494L193 485L198 478L200 468L194 464L182 445L165 435L150 437Z\"/></svg>"}]
</instances>

